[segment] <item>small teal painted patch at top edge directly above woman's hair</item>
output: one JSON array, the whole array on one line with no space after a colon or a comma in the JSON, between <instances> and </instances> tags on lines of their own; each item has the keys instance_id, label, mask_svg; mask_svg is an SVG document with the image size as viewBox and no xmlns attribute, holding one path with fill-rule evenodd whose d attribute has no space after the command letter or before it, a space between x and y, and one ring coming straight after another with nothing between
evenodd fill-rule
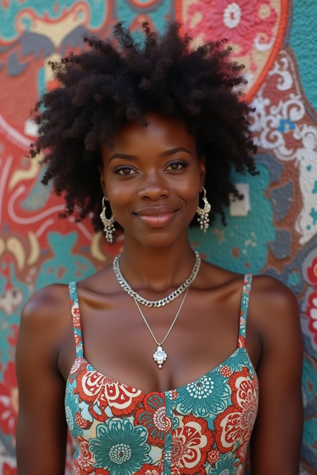
<instances>
[{"instance_id":1,"label":"small teal painted patch at top edge directly above woman's hair","mask_svg":"<svg viewBox=\"0 0 317 475\"><path fill-rule=\"evenodd\" d=\"M133 9L125 0L117 0L116 8L118 19L126 21L127 24L130 26L130 24L137 16L135 8ZM143 12L141 11L142 9L140 9L139 14L142 15L142 13L144 13L145 15L150 17L150 19L153 21L154 28L160 30L165 24L166 16L169 15L170 9L170 0L163 0L162 3L158 2L157 8L155 8L153 11L144 9Z\"/></svg>"}]
</instances>

